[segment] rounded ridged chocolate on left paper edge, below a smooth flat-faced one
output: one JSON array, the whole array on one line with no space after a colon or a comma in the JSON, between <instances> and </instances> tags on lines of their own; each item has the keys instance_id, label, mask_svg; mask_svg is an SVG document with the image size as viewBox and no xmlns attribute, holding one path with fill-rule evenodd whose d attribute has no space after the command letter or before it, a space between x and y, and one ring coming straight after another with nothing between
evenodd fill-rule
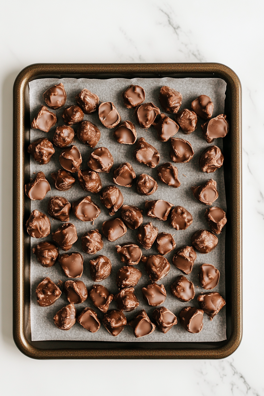
<instances>
[{"instance_id":1,"label":"rounded ridged chocolate on left paper edge, below a smooth flat-faced one","mask_svg":"<svg viewBox=\"0 0 264 396\"><path fill-rule=\"evenodd\" d=\"M32 238L44 238L50 233L49 218L38 210L33 210L26 223L27 232Z\"/></svg>"}]
</instances>

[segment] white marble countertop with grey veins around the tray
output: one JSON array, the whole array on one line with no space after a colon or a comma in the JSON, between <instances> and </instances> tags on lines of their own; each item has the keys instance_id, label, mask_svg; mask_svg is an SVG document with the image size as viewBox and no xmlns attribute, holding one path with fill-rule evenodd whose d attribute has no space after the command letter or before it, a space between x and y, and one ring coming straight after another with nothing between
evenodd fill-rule
<instances>
[{"instance_id":1,"label":"white marble countertop with grey veins around the tray","mask_svg":"<svg viewBox=\"0 0 264 396\"><path fill-rule=\"evenodd\" d=\"M261 0L9 0L1 6L2 394L264 395L264 121ZM243 339L223 360L36 361L12 338L12 86L31 63L219 62L243 97ZM262 157L263 156L263 157ZM126 368L125 368L126 367ZM68 375L70 373L70 376ZM148 379L148 378L152 379Z\"/></svg>"}]
</instances>

